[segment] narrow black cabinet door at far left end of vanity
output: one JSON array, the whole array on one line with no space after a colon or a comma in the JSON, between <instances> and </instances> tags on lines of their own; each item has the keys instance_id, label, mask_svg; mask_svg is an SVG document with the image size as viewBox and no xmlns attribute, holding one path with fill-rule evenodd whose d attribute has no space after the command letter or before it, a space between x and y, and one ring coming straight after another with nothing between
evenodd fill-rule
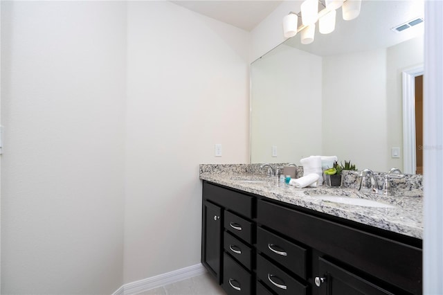
<instances>
[{"instance_id":1,"label":"narrow black cabinet door at far left end of vanity","mask_svg":"<svg viewBox=\"0 0 443 295\"><path fill-rule=\"evenodd\" d=\"M201 263L221 283L221 208L210 202L203 203L203 236Z\"/></svg>"}]
</instances>

